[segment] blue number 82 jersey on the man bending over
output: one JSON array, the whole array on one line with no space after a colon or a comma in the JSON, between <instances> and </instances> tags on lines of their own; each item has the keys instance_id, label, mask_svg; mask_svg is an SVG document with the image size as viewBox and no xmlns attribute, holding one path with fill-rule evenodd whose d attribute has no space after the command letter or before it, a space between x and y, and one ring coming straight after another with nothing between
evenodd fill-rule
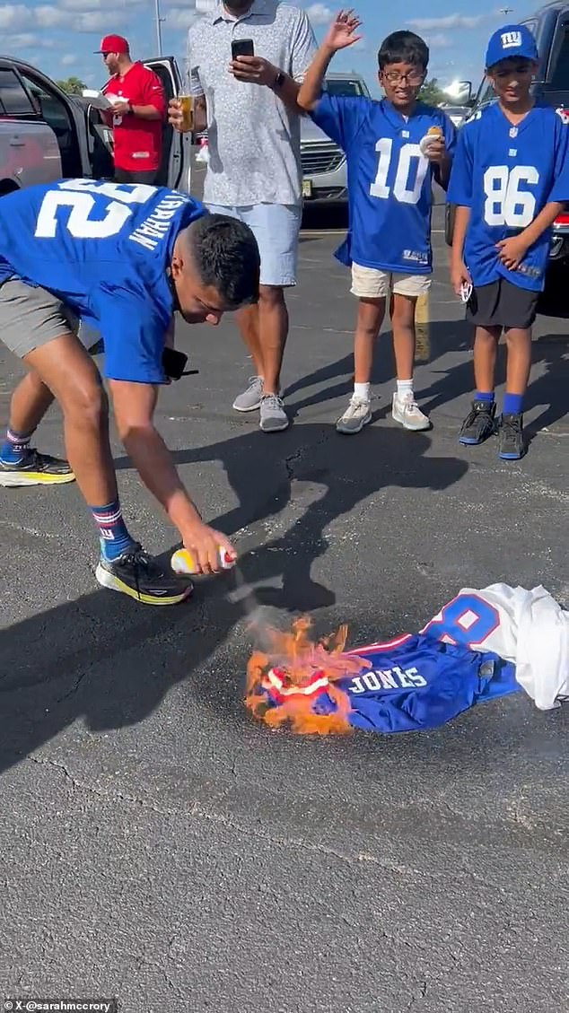
<instances>
[{"instance_id":1,"label":"blue number 82 jersey on the man bending over","mask_svg":"<svg viewBox=\"0 0 569 1013\"><path fill-rule=\"evenodd\" d=\"M105 376L163 383L178 232L205 209L159 186L66 179L0 201L0 284L52 292L100 331Z\"/></svg>"}]
</instances>

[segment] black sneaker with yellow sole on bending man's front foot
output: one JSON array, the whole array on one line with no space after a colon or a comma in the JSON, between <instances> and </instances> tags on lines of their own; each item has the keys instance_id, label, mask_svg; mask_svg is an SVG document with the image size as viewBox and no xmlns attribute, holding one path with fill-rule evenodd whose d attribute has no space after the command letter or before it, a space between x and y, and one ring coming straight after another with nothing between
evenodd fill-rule
<instances>
[{"instance_id":1,"label":"black sneaker with yellow sole on bending man's front foot","mask_svg":"<svg viewBox=\"0 0 569 1013\"><path fill-rule=\"evenodd\" d=\"M95 576L101 588L119 591L144 605L177 605L193 591L189 577L163 569L138 543L112 561L101 556Z\"/></svg>"}]
</instances>

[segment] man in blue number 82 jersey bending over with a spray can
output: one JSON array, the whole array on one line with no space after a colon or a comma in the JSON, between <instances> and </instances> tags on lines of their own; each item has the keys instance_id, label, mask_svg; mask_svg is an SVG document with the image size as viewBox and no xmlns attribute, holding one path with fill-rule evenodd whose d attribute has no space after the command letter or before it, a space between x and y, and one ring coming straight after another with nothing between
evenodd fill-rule
<instances>
[{"instance_id":1,"label":"man in blue number 82 jersey bending over with a spray can","mask_svg":"<svg viewBox=\"0 0 569 1013\"><path fill-rule=\"evenodd\" d=\"M174 313L218 324L257 299L258 280L251 230L166 187L66 179L0 202L0 339L28 371L0 441L0 486L76 479L98 532L103 588L164 606L187 598L191 580L160 566L127 528L106 396L79 320L91 338L92 329L102 336L114 422L134 467L210 573L220 569L220 547L235 552L201 520L153 416L160 386L185 363L173 349ZM30 447L54 399L69 462Z\"/></svg>"}]
</instances>

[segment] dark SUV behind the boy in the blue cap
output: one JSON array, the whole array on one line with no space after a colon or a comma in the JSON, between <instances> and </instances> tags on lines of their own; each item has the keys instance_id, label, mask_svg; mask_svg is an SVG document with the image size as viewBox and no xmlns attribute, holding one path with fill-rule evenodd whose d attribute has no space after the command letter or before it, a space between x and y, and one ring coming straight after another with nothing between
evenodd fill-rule
<instances>
[{"instance_id":1,"label":"dark SUV behind the boy in the blue cap","mask_svg":"<svg viewBox=\"0 0 569 1013\"><path fill-rule=\"evenodd\" d=\"M553 105L567 122L569 130L569 2L554 0L521 21L534 34L540 52L540 70L533 91L539 101ZM494 101L491 84L482 81L473 102L473 112ZM453 241L455 208L446 205L446 242ZM546 291L541 300L544 313L567 313L569 271L569 208L553 227ZM563 305L565 304L565 305Z\"/></svg>"}]
</instances>

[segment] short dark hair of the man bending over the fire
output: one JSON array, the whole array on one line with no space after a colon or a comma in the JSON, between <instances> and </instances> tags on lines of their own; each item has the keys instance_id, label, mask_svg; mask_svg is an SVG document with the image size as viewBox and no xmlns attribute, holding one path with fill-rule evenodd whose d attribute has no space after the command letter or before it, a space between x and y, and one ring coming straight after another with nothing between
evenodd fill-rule
<instances>
[{"instance_id":1,"label":"short dark hair of the man bending over the fire","mask_svg":"<svg viewBox=\"0 0 569 1013\"><path fill-rule=\"evenodd\" d=\"M248 225L229 215L204 215L193 222L191 250L201 282L229 309L258 301L259 247Z\"/></svg>"}]
</instances>

